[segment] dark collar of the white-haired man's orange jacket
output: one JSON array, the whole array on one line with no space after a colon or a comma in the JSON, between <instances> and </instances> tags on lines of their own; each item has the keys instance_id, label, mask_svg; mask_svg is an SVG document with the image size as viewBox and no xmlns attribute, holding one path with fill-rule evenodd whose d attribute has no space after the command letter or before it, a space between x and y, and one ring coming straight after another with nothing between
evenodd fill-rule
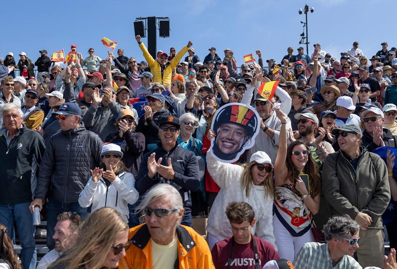
<instances>
[{"instance_id":1,"label":"dark collar of the white-haired man's orange jacket","mask_svg":"<svg viewBox=\"0 0 397 269\"><path fill-rule=\"evenodd\" d=\"M188 230L181 225L177 227L177 237L178 241L182 244L187 253L196 246L196 242L193 240ZM134 246L143 250L150 240L150 233L147 224L140 227L131 240Z\"/></svg>"}]
</instances>

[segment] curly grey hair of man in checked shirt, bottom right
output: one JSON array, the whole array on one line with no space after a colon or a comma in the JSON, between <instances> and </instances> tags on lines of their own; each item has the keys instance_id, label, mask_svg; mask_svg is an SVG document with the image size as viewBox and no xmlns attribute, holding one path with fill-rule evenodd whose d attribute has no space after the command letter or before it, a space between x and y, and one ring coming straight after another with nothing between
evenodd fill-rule
<instances>
[{"instance_id":1,"label":"curly grey hair of man in checked shirt, bottom right","mask_svg":"<svg viewBox=\"0 0 397 269\"><path fill-rule=\"evenodd\" d=\"M360 226L348 215L333 216L323 227L326 242L332 238L352 237L360 230Z\"/></svg>"}]
</instances>

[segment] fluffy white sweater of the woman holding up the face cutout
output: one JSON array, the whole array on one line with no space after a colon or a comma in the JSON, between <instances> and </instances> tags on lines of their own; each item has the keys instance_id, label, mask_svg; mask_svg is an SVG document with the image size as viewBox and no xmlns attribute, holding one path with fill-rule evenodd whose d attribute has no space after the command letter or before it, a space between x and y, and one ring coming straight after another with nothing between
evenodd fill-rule
<instances>
[{"instance_id":1,"label":"fluffy white sweater of the woman holding up the face cutout","mask_svg":"<svg viewBox=\"0 0 397 269\"><path fill-rule=\"evenodd\" d=\"M251 185L247 197L246 189L241 187L243 167L217 161L209 151L206 159L208 172L220 187L209 212L206 230L222 239L231 237L232 230L225 213L226 206L229 202L247 202L254 208L257 220L252 228L253 234L271 243L277 250L273 234L273 199L269 195L265 195L265 187Z\"/></svg>"}]
</instances>

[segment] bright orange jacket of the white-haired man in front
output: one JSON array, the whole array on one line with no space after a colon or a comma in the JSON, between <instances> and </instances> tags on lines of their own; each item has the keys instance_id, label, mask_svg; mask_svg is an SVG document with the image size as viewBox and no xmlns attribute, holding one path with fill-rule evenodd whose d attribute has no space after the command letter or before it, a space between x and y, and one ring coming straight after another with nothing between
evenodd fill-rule
<instances>
[{"instance_id":1,"label":"bright orange jacket of the white-haired man in front","mask_svg":"<svg viewBox=\"0 0 397 269\"><path fill-rule=\"evenodd\" d=\"M191 227L179 225L178 259L179 269L215 269L207 242ZM130 229L131 247L120 263L120 269L152 269L152 247L146 223Z\"/></svg>"}]
</instances>

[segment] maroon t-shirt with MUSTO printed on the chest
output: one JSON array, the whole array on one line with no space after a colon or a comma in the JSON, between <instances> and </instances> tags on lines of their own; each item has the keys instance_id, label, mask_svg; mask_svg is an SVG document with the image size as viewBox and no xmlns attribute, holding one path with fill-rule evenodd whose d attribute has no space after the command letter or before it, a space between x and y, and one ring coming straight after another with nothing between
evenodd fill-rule
<instances>
[{"instance_id":1,"label":"maroon t-shirt with MUSTO printed on the chest","mask_svg":"<svg viewBox=\"0 0 397 269\"><path fill-rule=\"evenodd\" d=\"M260 261L260 268L265 263L271 260L279 260L277 251L274 247L265 240L253 236L257 242L258 256ZM232 237L226 238L215 244L212 248L212 261L216 269L227 269L227 259L229 258L229 251L231 246ZM249 244L237 244L234 242L232 264L230 269L255 269L255 255L254 255L254 244L252 241Z\"/></svg>"}]
</instances>

